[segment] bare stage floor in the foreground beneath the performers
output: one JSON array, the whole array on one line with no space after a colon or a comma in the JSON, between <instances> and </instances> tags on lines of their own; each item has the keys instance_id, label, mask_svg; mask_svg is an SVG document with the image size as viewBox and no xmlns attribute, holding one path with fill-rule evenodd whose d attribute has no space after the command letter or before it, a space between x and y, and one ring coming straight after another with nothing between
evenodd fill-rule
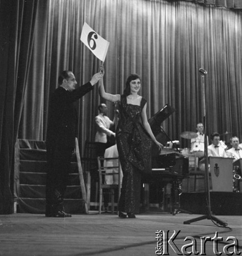
<instances>
[{"instance_id":1,"label":"bare stage floor in the foreground beneath the performers","mask_svg":"<svg viewBox=\"0 0 242 256\"><path fill-rule=\"evenodd\" d=\"M236 238L238 250L242 251L241 216L217 216L228 224L227 227L218 227L211 220L183 224L200 216L173 216L156 211L136 215L136 219L120 219L112 214L98 215L97 211L65 219L34 214L0 215L0 255L156 255L157 230L163 230L165 234L170 230L169 237L175 230L177 237L174 243L179 250L191 242L184 241L189 236L196 239L201 253L199 237L212 238L217 231L218 236L223 238L223 243L219 242L218 246L220 251L226 243L231 243L226 242L228 237ZM206 242L205 249L206 255L215 255L212 242ZM168 253L177 255L177 251L170 246Z\"/></svg>"}]
</instances>

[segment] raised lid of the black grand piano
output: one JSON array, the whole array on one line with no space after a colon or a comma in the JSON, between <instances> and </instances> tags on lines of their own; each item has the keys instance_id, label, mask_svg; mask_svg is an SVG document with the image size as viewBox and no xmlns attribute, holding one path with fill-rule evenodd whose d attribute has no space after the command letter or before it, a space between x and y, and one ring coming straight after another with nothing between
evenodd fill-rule
<instances>
[{"instance_id":1,"label":"raised lid of the black grand piano","mask_svg":"<svg viewBox=\"0 0 242 256\"><path fill-rule=\"evenodd\" d=\"M151 130L155 137L156 137L156 135L158 135L161 132L161 130L160 130L161 123L175 111L176 110L172 106L166 104L163 106L163 108L161 110L159 110L157 113L155 113L155 115L153 115L148 120L148 122L151 126Z\"/></svg>"}]
</instances>

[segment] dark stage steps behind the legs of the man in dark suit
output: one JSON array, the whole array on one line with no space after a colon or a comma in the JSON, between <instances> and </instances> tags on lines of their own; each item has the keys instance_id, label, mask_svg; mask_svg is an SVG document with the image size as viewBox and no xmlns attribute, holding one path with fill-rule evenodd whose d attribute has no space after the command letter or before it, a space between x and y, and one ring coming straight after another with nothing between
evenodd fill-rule
<instances>
[{"instance_id":1,"label":"dark stage steps behind the legs of the man in dark suit","mask_svg":"<svg viewBox=\"0 0 242 256\"><path fill-rule=\"evenodd\" d=\"M45 183L46 183L46 150L44 141L19 140L17 165L18 200L17 212L44 214L45 212ZM79 172L76 155L71 158L71 170L64 199L65 211L70 214L83 214Z\"/></svg>"}]
</instances>

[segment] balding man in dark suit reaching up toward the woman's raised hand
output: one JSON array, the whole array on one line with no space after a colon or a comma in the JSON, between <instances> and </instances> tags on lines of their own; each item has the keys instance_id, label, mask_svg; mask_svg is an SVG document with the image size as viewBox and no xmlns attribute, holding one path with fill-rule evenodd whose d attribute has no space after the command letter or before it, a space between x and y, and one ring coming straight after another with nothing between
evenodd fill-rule
<instances>
[{"instance_id":1,"label":"balding man in dark suit reaching up toward the woman's raised hand","mask_svg":"<svg viewBox=\"0 0 242 256\"><path fill-rule=\"evenodd\" d=\"M101 73L92 76L90 82L76 88L76 78L71 71L63 71L58 78L59 87L55 90L49 106L49 122L46 136L47 163L46 175L46 217L71 217L63 208L71 155L75 149L77 112L74 102L93 89L102 77Z\"/></svg>"}]
</instances>

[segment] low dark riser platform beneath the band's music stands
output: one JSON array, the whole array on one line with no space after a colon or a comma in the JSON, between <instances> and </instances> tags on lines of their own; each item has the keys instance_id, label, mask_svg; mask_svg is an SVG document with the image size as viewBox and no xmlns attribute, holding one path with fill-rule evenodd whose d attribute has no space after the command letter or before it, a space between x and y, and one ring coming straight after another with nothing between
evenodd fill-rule
<instances>
[{"instance_id":1,"label":"low dark riser platform beneath the band's music stands","mask_svg":"<svg viewBox=\"0 0 242 256\"><path fill-rule=\"evenodd\" d=\"M210 192L210 202L213 215L242 215L242 193ZM192 214L207 214L205 193L182 193L180 205Z\"/></svg>"}]
</instances>

